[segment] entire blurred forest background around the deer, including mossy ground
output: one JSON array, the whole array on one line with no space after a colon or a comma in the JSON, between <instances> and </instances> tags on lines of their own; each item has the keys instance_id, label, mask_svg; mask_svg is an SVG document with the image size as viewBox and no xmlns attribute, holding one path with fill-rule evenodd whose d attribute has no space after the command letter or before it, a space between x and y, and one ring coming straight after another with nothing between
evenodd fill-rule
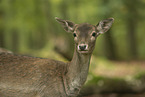
<instances>
[{"instance_id":1,"label":"entire blurred forest background around the deer, including mossy ground","mask_svg":"<svg viewBox=\"0 0 145 97\"><path fill-rule=\"evenodd\" d=\"M0 0L0 48L67 61L73 55L73 37L55 17L93 25L113 17L111 29L96 41L85 89L144 91L145 62L108 60L145 59L144 11L145 0Z\"/></svg>"}]
</instances>

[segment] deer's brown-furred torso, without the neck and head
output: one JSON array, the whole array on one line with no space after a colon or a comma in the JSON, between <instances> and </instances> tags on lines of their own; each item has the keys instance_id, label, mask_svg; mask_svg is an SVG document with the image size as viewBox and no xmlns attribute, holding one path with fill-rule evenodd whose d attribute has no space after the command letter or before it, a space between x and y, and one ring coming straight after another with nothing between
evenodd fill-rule
<instances>
[{"instance_id":1,"label":"deer's brown-furred torso, without the neck and head","mask_svg":"<svg viewBox=\"0 0 145 97\"><path fill-rule=\"evenodd\" d=\"M66 97L65 69L60 61L0 54L0 97Z\"/></svg>"}]
</instances>

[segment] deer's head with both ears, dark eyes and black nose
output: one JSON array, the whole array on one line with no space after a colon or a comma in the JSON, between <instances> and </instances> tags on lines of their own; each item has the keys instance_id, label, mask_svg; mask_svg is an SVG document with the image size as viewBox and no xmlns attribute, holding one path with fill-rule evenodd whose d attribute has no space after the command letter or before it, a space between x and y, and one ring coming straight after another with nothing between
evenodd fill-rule
<instances>
[{"instance_id":1,"label":"deer's head with both ears, dark eyes and black nose","mask_svg":"<svg viewBox=\"0 0 145 97\"><path fill-rule=\"evenodd\" d=\"M65 31L73 34L76 49L81 54L92 53L96 38L100 34L107 32L114 21L113 18L109 18L100 21L97 25L91 25L88 23L74 24L71 21L62 20L57 17L56 20L63 26Z\"/></svg>"}]
</instances>

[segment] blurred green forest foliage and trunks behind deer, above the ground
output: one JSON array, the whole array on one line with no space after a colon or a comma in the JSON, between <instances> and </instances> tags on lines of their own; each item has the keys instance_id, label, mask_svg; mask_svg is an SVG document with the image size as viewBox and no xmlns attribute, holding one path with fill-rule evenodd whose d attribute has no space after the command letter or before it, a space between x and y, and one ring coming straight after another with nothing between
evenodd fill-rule
<instances>
[{"instance_id":1,"label":"blurred green forest foliage and trunks behind deer, above the ground","mask_svg":"<svg viewBox=\"0 0 145 97\"><path fill-rule=\"evenodd\" d=\"M54 17L96 25L113 17L111 30L96 42L95 56L145 59L144 0L0 0L0 47L14 52L64 49L73 54L73 38ZM61 42L61 43L60 43Z\"/></svg>"}]
</instances>

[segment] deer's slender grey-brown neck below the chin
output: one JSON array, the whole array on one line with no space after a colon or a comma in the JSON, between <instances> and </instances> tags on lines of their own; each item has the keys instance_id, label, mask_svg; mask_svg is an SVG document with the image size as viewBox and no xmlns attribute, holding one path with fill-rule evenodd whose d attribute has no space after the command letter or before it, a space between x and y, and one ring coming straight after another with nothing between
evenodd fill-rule
<instances>
[{"instance_id":1,"label":"deer's slender grey-brown neck below the chin","mask_svg":"<svg viewBox=\"0 0 145 97\"><path fill-rule=\"evenodd\" d=\"M75 46L74 55L68 64L67 84L69 94L77 94L88 75L91 54L78 53Z\"/></svg>"}]
</instances>

